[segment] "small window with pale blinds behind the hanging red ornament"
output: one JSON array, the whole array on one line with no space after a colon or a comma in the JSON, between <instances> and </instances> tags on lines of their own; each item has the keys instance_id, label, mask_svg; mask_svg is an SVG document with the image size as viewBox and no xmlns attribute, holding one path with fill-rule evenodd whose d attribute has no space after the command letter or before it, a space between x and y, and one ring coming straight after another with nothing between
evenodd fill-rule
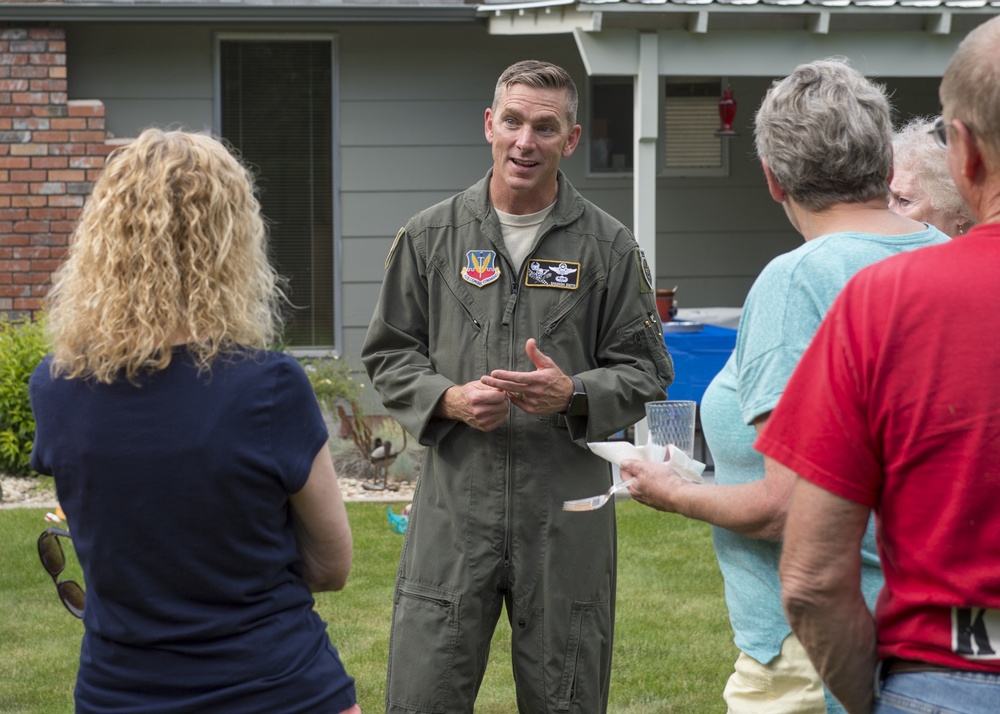
<instances>
[{"instance_id":1,"label":"small window with pale blinds behind the hanging red ornament","mask_svg":"<svg viewBox=\"0 0 1000 714\"><path fill-rule=\"evenodd\" d=\"M723 165L719 128L721 82L667 82L663 102L664 168L712 169Z\"/></svg>"}]
</instances>

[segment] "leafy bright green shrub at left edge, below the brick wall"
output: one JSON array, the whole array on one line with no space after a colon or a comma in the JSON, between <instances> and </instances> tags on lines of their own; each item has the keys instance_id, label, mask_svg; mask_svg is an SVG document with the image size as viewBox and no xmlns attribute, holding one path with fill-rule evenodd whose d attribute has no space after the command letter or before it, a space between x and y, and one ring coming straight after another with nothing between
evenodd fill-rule
<instances>
[{"instance_id":1,"label":"leafy bright green shrub at left edge, below the brick wall","mask_svg":"<svg viewBox=\"0 0 1000 714\"><path fill-rule=\"evenodd\" d=\"M47 352L41 322L0 313L0 471L28 476L35 417L28 379Z\"/></svg>"}]
</instances>

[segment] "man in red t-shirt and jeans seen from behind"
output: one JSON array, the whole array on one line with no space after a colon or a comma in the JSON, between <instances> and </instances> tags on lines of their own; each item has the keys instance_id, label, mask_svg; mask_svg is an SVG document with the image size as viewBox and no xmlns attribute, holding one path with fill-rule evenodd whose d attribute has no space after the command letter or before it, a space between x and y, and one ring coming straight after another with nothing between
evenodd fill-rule
<instances>
[{"instance_id":1,"label":"man in red t-shirt and jeans seen from behind","mask_svg":"<svg viewBox=\"0 0 1000 714\"><path fill-rule=\"evenodd\" d=\"M852 713L998 710L998 66L994 18L952 58L933 130L980 225L858 273L756 442L800 477L782 600ZM872 509L885 572L874 618L858 582Z\"/></svg>"}]
</instances>

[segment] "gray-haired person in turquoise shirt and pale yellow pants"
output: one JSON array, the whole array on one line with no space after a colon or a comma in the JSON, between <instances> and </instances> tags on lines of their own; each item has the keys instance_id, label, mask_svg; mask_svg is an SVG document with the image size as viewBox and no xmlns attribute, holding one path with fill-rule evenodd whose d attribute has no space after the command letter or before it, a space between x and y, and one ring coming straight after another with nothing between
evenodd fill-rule
<instances>
[{"instance_id":1,"label":"gray-haired person in turquoise shirt and pale yellow pants","mask_svg":"<svg viewBox=\"0 0 1000 714\"><path fill-rule=\"evenodd\" d=\"M637 501L714 526L740 650L723 692L728 712L842 712L782 609L778 562L795 474L753 444L848 279L885 257L948 237L888 210L889 102L881 86L845 61L810 62L774 82L754 134L770 195L805 243L772 260L754 282L736 349L702 400L715 484L692 484L665 464L640 461L623 462L622 477ZM862 551L871 607L882 585L871 526Z\"/></svg>"}]
</instances>

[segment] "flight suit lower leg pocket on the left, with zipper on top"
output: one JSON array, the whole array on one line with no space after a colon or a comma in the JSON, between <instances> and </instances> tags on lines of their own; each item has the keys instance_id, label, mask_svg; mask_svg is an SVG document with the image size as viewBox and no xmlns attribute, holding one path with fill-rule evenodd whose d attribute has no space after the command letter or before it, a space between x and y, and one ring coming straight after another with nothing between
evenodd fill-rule
<instances>
[{"instance_id":1,"label":"flight suit lower leg pocket on the left, with zipper on top","mask_svg":"<svg viewBox=\"0 0 1000 714\"><path fill-rule=\"evenodd\" d=\"M452 689L460 596L401 579L389 640L389 704L443 712Z\"/></svg>"}]
</instances>

